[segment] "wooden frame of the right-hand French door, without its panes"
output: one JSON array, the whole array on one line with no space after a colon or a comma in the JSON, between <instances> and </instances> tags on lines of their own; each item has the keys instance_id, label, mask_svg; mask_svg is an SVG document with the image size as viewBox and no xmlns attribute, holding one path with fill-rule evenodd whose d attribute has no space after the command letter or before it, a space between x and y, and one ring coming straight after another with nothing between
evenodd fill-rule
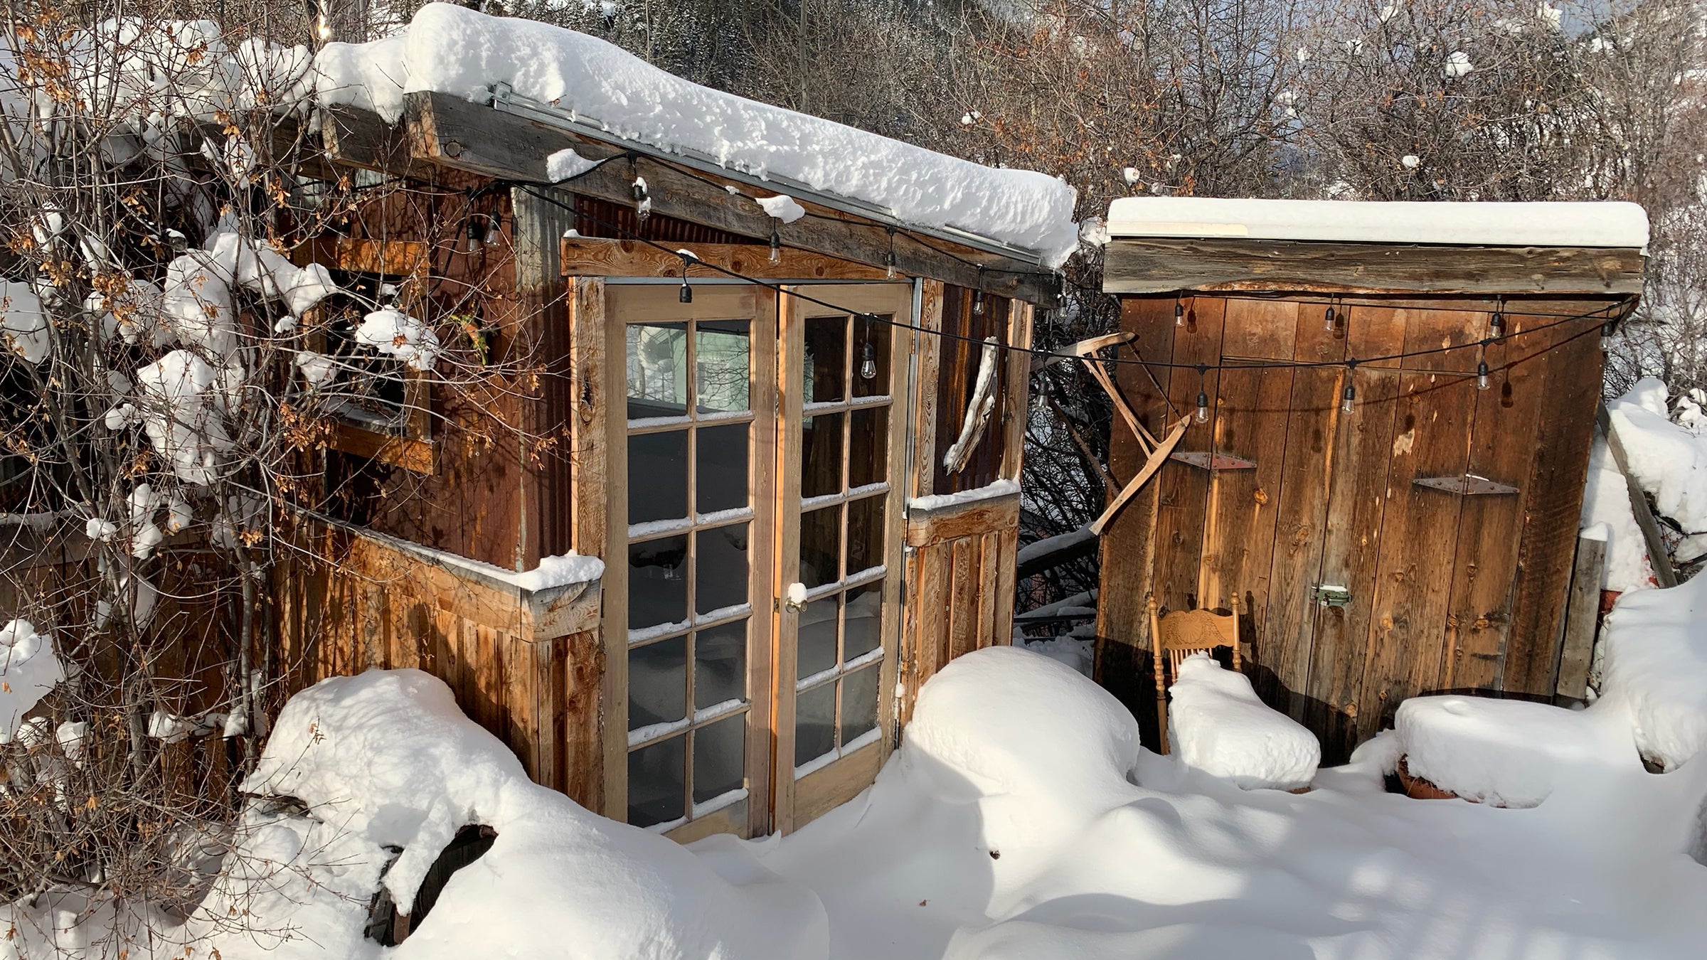
<instances>
[{"instance_id":1,"label":"wooden frame of the right-hand French door, without its panes","mask_svg":"<svg viewBox=\"0 0 1707 960\"><path fill-rule=\"evenodd\" d=\"M799 297L787 296L801 290L806 296L823 299L845 307L831 311ZM889 335L889 417L888 417L888 465L886 477L889 490L884 497L884 574L883 574L883 622L879 627L879 646L884 651L877 666L877 728L876 743L862 746L848 757L842 757L802 777L794 776L794 687L797 673L797 637L799 612L790 610L782 598L789 584L799 579L801 565L801 458L799 436L802 429L804 398L795 384L802 383L802 357L806 350L804 319L807 316L826 316L835 313L891 313L906 323L915 323L915 284L864 284L864 285L790 285L785 287L778 309L778 350L777 350L777 502L773 507L777 530L777 552L773 560L777 598L775 623L772 629L773 651L772 663L772 729L775 731L775 755L772 760L772 803L775 810L772 828L777 834L790 834L814 820L830 808L852 799L860 789L871 784L888 758L894 743L896 714L894 699L886 695L894 688L900 663L901 634L901 579L903 579L903 507L906 502L906 444L910 442L910 410L906 388L910 383L908 364L913 347L912 331L894 326ZM852 338L848 340L852 357ZM848 451L843 448L843 461ZM843 541L843 550L847 548ZM843 613L845 615L845 613ZM840 683L840 678L831 680Z\"/></svg>"}]
</instances>

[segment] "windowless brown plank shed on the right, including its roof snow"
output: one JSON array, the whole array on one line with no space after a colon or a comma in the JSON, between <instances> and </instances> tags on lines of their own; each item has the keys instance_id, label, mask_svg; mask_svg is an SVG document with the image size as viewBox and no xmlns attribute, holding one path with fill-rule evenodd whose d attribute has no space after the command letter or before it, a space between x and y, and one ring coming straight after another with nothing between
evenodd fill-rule
<instances>
[{"instance_id":1,"label":"windowless brown plank shed on the right, including its roof snow","mask_svg":"<svg viewBox=\"0 0 1707 960\"><path fill-rule=\"evenodd\" d=\"M1552 695L1642 210L1130 198L1110 236L1115 391L1188 427L1104 531L1099 682L1152 724L1147 596L1236 596L1256 690L1328 760L1417 694Z\"/></svg>"}]
</instances>

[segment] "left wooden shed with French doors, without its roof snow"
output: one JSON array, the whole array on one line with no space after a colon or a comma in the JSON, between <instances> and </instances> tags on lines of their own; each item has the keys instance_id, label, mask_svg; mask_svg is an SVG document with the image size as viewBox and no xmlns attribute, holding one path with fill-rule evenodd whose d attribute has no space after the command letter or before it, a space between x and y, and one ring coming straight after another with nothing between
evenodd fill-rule
<instances>
[{"instance_id":1,"label":"left wooden shed with French doors, without its roof snow","mask_svg":"<svg viewBox=\"0 0 1707 960\"><path fill-rule=\"evenodd\" d=\"M278 572L292 687L427 670L538 782L690 840L847 801L920 683L1005 642L1029 367L1000 347L1055 302L1045 255L507 89L408 94L398 125L331 109L323 135L401 188L311 253L481 290L490 348L541 352L483 413L546 442L469 442L473 400L430 384L336 424L347 495ZM565 150L587 169L546 186ZM804 215L756 203L778 195Z\"/></svg>"}]
</instances>

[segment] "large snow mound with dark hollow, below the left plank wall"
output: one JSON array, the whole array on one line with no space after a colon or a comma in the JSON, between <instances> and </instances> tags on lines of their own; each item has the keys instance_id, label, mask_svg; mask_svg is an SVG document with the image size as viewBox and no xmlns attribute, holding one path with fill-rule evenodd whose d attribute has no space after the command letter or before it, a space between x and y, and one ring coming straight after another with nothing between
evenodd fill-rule
<instances>
[{"instance_id":1,"label":"large snow mound with dark hollow, below the left plank wall","mask_svg":"<svg viewBox=\"0 0 1707 960\"><path fill-rule=\"evenodd\" d=\"M809 890L739 851L722 851L714 868L531 782L442 682L417 670L338 676L292 697L244 791L297 798L312 820L369 847L403 847L384 885L405 905L457 828L497 830L493 847L386 951L399 960L565 957L587 945L601 957L826 953L823 905ZM297 842L271 837L285 852ZM377 945L362 946L381 957Z\"/></svg>"}]
</instances>

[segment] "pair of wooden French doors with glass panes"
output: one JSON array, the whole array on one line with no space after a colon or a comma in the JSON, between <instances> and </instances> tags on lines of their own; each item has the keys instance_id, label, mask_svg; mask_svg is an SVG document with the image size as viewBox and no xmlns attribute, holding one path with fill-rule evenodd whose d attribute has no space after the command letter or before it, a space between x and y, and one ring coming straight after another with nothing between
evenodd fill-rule
<instances>
[{"instance_id":1,"label":"pair of wooden French doors with glass panes","mask_svg":"<svg viewBox=\"0 0 1707 960\"><path fill-rule=\"evenodd\" d=\"M910 318L910 290L801 289L836 311L608 287L611 815L681 840L790 830L886 755L906 338L865 314Z\"/></svg>"}]
</instances>

